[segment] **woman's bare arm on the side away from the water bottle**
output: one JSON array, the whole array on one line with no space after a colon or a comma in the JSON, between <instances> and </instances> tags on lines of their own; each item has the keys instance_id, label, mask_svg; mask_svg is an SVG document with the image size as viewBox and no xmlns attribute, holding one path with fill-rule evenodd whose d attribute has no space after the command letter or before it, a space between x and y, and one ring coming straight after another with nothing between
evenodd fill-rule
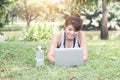
<instances>
[{"instance_id":1,"label":"woman's bare arm on the side away from the water bottle","mask_svg":"<svg viewBox=\"0 0 120 80\"><path fill-rule=\"evenodd\" d=\"M83 47L83 60L86 61L88 59L88 50L87 50L85 33L82 31L80 37L80 46Z\"/></svg>"}]
</instances>

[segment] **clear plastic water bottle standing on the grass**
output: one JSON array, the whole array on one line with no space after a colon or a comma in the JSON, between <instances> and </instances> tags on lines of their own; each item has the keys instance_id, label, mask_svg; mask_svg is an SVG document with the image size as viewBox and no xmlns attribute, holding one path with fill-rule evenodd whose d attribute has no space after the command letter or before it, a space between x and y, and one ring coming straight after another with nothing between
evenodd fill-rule
<instances>
[{"instance_id":1,"label":"clear plastic water bottle standing on the grass","mask_svg":"<svg viewBox=\"0 0 120 80\"><path fill-rule=\"evenodd\" d=\"M44 65L44 52L41 49L41 46L38 46L38 51L36 52L36 66Z\"/></svg>"}]
</instances>

